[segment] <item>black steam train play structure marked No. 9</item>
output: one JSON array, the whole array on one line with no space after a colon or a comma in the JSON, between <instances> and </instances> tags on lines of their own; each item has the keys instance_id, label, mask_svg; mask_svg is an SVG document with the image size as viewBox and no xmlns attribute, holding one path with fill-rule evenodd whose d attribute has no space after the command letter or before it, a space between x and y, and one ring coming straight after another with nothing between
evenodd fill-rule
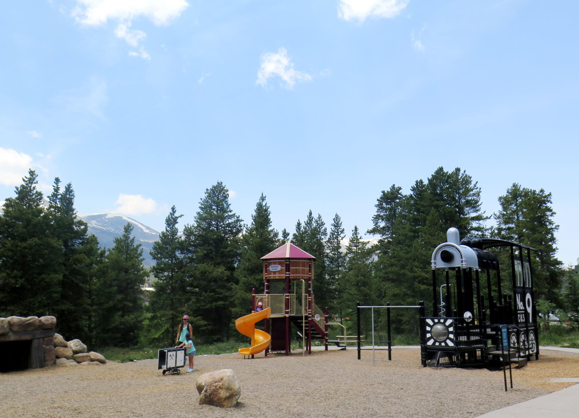
<instances>
[{"instance_id":1,"label":"black steam train play structure marked No. 9","mask_svg":"<svg viewBox=\"0 0 579 418\"><path fill-rule=\"evenodd\" d=\"M504 355L525 366L532 357L538 359L530 256L534 248L492 238L460 241L456 228L448 230L447 240L435 248L431 260L433 312L420 317L422 365L493 366ZM499 259L489 251L499 247L510 248L510 284L501 283ZM501 289L509 285L512 295L503 294ZM503 327L509 345L504 354Z\"/></svg>"}]
</instances>

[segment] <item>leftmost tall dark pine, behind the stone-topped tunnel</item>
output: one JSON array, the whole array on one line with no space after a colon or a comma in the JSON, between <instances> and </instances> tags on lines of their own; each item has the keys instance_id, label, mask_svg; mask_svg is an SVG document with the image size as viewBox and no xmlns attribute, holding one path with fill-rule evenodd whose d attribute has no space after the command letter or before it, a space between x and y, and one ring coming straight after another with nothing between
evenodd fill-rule
<instances>
[{"instance_id":1,"label":"leftmost tall dark pine, behind the stone-topped tunnel","mask_svg":"<svg viewBox=\"0 0 579 418\"><path fill-rule=\"evenodd\" d=\"M38 175L28 171L0 217L0 316L53 313L63 275L61 243L44 216Z\"/></svg>"}]
</instances>

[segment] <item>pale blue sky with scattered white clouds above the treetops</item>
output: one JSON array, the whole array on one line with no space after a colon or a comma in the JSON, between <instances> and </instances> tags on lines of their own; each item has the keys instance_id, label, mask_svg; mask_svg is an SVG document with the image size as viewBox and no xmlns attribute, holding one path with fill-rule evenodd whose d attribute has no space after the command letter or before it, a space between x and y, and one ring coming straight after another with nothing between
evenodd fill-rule
<instances>
[{"instance_id":1,"label":"pale blue sky with scattered white clouds above the treetops","mask_svg":"<svg viewBox=\"0 0 579 418\"><path fill-rule=\"evenodd\" d=\"M460 167L486 214L514 182L552 193L579 257L579 3L36 0L0 13L0 197L28 168L81 214L192 223L222 181L251 222L347 235L392 184ZM449 225L452 226L452 225ZM369 236L368 236L369 237Z\"/></svg>"}]
</instances>

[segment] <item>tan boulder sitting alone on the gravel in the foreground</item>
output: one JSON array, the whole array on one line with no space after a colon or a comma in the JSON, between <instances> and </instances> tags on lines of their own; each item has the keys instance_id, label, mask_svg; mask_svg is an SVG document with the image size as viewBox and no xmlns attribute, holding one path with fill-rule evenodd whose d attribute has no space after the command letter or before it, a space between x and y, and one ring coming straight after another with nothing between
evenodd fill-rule
<instances>
[{"instance_id":1,"label":"tan boulder sitting alone on the gravel in the foreground","mask_svg":"<svg viewBox=\"0 0 579 418\"><path fill-rule=\"evenodd\" d=\"M232 369L204 373L197 378L195 386L200 394L199 405L230 408L241 395L241 386Z\"/></svg>"}]
</instances>

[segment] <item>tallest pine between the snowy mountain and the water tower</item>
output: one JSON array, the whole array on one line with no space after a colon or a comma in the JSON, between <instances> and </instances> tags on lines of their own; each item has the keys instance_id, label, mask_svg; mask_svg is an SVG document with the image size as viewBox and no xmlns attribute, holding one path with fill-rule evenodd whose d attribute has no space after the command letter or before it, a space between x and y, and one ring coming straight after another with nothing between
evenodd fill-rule
<instances>
[{"instance_id":1,"label":"tallest pine between the snowy mountain and the water tower","mask_svg":"<svg viewBox=\"0 0 579 418\"><path fill-rule=\"evenodd\" d=\"M234 270L240 256L241 218L233 213L229 190L221 181L206 189L195 225L184 229L184 252L191 263L193 324L207 340L227 339L232 320Z\"/></svg>"}]
</instances>

